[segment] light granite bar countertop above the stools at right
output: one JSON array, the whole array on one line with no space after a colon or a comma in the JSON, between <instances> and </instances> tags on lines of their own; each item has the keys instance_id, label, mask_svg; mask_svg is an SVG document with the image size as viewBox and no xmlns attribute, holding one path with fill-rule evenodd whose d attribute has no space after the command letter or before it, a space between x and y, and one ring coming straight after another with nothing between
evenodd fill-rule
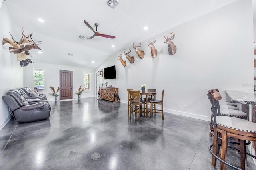
<instances>
[{"instance_id":1,"label":"light granite bar countertop above the stools at right","mask_svg":"<svg viewBox=\"0 0 256 170\"><path fill-rule=\"evenodd\" d=\"M255 91L226 90L226 93L233 103L256 105Z\"/></svg>"}]
</instances>

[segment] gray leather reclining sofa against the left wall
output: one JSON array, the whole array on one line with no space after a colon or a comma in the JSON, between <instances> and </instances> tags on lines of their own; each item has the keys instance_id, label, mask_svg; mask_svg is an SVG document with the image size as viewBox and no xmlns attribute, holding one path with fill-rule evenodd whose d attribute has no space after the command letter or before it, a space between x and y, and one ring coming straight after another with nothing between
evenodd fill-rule
<instances>
[{"instance_id":1,"label":"gray leather reclining sofa against the left wall","mask_svg":"<svg viewBox=\"0 0 256 170\"><path fill-rule=\"evenodd\" d=\"M49 119L51 107L46 96L28 97L25 90L11 89L2 96L12 111L14 119L19 123L28 123Z\"/></svg>"}]
</instances>

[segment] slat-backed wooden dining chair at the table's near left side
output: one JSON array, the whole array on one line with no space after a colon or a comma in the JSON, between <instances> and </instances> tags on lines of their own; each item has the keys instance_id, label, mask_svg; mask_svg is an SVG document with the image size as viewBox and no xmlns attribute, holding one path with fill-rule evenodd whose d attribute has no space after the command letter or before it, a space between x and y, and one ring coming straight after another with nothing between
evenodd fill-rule
<instances>
[{"instance_id":1,"label":"slat-backed wooden dining chair at the table's near left side","mask_svg":"<svg viewBox=\"0 0 256 170\"><path fill-rule=\"evenodd\" d=\"M130 90L130 119L132 118L132 112L138 113L138 121L140 121L140 113L144 113L145 116L145 101L140 99L139 90ZM138 106L138 108L137 108ZM141 109L142 106L142 109ZM141 112L142 110L142 112Z\"/></svg>"}]
</instances>

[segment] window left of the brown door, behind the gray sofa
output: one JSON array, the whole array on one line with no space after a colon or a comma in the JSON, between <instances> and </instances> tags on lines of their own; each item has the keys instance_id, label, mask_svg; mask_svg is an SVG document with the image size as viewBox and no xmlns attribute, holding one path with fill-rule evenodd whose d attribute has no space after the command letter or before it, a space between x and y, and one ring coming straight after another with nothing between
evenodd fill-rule
<instances>
[{"instance_id":1,"label":"window left of the brown door, behind the gray sofa","mask_svg":"<svg viewBox=\"0 0 256 170\"><path fill-rule=\"evenodd\" d=\"M44 91L44 69L33 68L34 88Z\"/></svg>"}]
</instances>

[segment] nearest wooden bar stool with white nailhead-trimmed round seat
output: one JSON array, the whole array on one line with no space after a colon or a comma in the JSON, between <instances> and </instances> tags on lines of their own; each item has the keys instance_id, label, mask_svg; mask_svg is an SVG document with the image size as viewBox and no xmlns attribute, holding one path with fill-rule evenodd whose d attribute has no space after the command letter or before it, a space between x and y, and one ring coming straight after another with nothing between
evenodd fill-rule
<instances>
[{"instance_id":1,"label":"nearest wooden bar stool with white nailhead-trimmed round seat","mask_svg":"<svg viewBox=\"0 0 256 170\"><path fill-rule=\"evenodd\" d=\"M223 116L219 105L221 99L220 92L212 92L207 94L211 102L211 111L214 115L212 124L214 125L214 139L213 144L210 144L209 151L212 154L212 167L216 167L216 161L220 161L220 170L226 170L226 165L234 169L246 169L246 155L255 156L246 152L246 140L256 141L256 123L240 119L237 117ZM221 138L219 138L221 136ZM228 145L228 137L240 140L240 148ZM219 143L220 142L220 143ZM221 150L220 150L221 146ZM227 152L228 148L240 151L240 168L228 163ZM220 152L220 154L219 154ZM234 154L231 156L235 156Z\"/></svg>"}]
</instances>

